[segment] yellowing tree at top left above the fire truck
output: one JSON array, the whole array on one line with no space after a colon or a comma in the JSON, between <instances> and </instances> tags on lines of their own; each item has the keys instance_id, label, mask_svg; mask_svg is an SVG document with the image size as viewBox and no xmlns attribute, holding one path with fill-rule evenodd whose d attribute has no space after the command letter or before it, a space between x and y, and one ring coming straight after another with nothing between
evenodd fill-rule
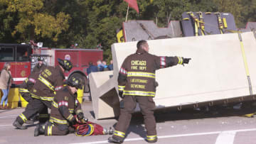
<instances>
[{"instance_id":1,"label":"yellowing tree at top left above the fire truck","mask_svg":"<svg viewBox=\"0 0 256 144\"><path fill-rule=\"evenodd\" d=\"M34 40L38 38L51 38L58 40L58 35L68 29L70 16L63 12L51 16L43 8L43 0L1 0L6 4L7 12L17 13L18 23L12 35L20 34L20 40Z\"/></svg>"}]
</instances>

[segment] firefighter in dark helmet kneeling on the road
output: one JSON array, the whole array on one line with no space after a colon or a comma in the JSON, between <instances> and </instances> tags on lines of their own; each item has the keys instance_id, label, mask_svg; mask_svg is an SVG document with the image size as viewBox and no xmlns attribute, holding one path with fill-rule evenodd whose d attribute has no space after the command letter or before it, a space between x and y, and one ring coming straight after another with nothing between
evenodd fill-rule
<instances>
[{"instance_id":1,"label":"firefighter in dark helmet kneeling on the road","mask_svg":"<svg viewBox=\"0 0 256 144\"><path fill-rule=\"evenodd\" d=\"M81 79L70 77L65 87L56 92L50 111L50 122L45 126L36 126L34 136L45 135L67 135L75 132L73 125L77 121L87 122L82 113L81 105L75 97L78 89L82 89ZM75 116L78 120L76 120Z\"/></svg>"}]
</instances>

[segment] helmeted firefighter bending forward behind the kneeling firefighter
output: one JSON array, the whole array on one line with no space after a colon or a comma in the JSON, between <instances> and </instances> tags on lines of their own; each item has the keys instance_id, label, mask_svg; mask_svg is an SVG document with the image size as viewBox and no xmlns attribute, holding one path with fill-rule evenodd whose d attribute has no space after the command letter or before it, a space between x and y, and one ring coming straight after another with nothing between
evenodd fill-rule
<instances>
[{"instance_id":1,"label":"helmeted firefighter bending forward behind the kneeling firefighter","mask_svg":"<svg viewBox=\"0 0 256 144\"><path fill-rule=\"evenodd\" d=\"M70 71L73 67L69 60L58 59L60 65L56 67L46 67L36 79L36 83L31 90L31 96L33 99L33 106L30 109L26 109L21 113L13 125L19 129L26 129L26 126L22 126L29 118L36 113L41 113L43 109L50 109L51 102L55 96L55 92L63 87L64 72Z\"/></svg>"}]
</instances>

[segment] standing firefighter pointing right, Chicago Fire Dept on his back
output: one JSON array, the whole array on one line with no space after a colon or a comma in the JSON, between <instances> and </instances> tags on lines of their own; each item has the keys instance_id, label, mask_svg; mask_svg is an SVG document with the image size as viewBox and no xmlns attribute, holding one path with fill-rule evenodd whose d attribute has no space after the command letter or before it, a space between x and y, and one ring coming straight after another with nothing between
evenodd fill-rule
<instances>
[{"instance_id":1,"label":"standing firefighter pointing right, Chicago Fire Dept on his back","mask_svg":"<svg viewBox=\"0 0 256 144\"><path fill-rule=\"evenodd\" d=\"M132 118L132 113L139 103L144 116L146 141L156 143L156 121L154 118L154 96L156 87L155 72L160 68L188 64L190 58L159 57L149 54L146 40L139 40L136 53L129 55L119 70L118 90L124 105L115 126L114 135L108 138L110 143L122 143Z\"/></svg>"}]
</instances>

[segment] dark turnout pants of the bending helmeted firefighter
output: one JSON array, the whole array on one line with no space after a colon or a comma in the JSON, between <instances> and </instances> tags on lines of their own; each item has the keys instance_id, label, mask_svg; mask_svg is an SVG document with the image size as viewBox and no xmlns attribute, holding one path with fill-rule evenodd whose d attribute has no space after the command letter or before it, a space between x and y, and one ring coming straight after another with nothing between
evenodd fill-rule
<instances>
[{"instance_id":1,"label":"dark turnout pants of the bending helmeted firefighter","mask_svg":"<svg viewBox=\"0 0 256 144\"><path fill-rule=\"evenodd\" d=\"M33 99L29 101L25 111L23 111L23 113L21 113L17 117L17 121L18 123L23 124L26 121L28 121L28 119L35 116L37 113L46 113L46 111L48 113L48 108L50 108L50 106L51 106L51 101L42 101L40 99ZM46 114L43 114L43 116L46 116Z\"/></svg>"}]
</instances>

